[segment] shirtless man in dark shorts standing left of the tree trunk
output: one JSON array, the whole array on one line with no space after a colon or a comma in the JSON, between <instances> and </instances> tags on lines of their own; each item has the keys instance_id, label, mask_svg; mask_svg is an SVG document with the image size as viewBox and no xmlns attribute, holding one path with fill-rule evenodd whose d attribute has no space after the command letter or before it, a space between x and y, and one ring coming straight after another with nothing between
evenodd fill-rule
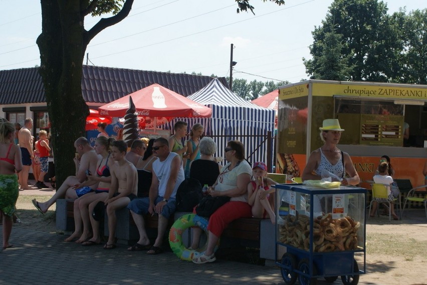
<instances>
[{"instance_id":1,"label":"shirtless man in dark shorts standing left of the tree trunk","mask_svg":"<svg viewBox=\"0 0 427 285\"><path fill-rule=\"evenodd\" d=\"M24 127L18 132L18 142L21 147L23 169L18 173L19 184L21 189L33 189L28 185L28 173L31 168L33 155L33 143L31 141L31 129L33 128L33 119L26 118Z\"/></svg>"}]
</instances>

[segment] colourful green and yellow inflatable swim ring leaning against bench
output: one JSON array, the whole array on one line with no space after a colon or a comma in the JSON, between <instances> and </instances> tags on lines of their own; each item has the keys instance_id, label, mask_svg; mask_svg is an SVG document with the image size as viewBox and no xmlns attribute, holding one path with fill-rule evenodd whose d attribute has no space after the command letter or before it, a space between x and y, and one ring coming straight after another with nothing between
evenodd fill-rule
<instances>
[{"instance_id":1,"label":"colourful green and yellow inflatable swim ring leaning against bench","mask_svg":"<svg viewBox=\"0 0 427 285\"><path fill-rule=\"evenodd\" d=\"M197 250L186 248L182 243L182 232L192 226L200 227L204 230L206 236L208 236L207 219L193 213L185 214L179 219L175 220L169 231L170 248L172 249L173 253L175 253L176 256L178 256L182 260L191 261L194 257L197 257L197 255L200 254L200 252L198 252ZM217 251L218 244L215 247L214 251Z\"/></svg>"}]
</instances>

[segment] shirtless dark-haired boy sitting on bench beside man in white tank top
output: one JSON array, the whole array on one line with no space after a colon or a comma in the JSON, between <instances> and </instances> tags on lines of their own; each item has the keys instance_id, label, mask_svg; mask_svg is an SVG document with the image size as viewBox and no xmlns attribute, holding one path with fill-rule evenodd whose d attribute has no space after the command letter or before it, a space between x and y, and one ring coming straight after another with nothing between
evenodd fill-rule
<instances>
[{"instance_id":1,"label":"shirtless dark-haired boy sitting on bench beside man in white tank top","mask_svg":"<svg viewBox=\"0 0 427 285\"><path fill-rule=\"evenodd\" d=\"M131 200L137 197L138 175L135 165L125 158L126 150L127 144L123 140L113 142L111 156L117 163L114 163L110 168L111 187L108 191L108 197L104 202L107 206L109 232L108 241L105 243L104 249L113 249L116 247L116 210L126 207Z\"/></svg>"}]
</instances>

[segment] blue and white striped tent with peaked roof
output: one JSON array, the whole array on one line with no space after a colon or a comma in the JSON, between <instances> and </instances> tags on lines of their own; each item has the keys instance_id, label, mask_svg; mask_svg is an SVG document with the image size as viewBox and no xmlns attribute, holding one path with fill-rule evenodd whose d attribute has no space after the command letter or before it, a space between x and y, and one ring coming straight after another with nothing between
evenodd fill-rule
<instances>
[{"instance_id":1,"label":"blue and white striped tent with peaked roof","mask_svg":"<svg viewBox=\"0 0 427 285\"><path fill-rule=\"evenodd\" d=\"M201 123L204 134L217 142L218 152L215 156L224 156L227 141L238 139L244 143L245 155L250 162L267 162L268 156L273 157L273 153L267 153L267 134L268 131L274 133L274 110L239 97L217 78L187 98L211 108L211 117L175 118L168 123L167 128L173 131L173 124L183 120L188 122L189 132L193 124ZM273 152L272 146L271 149Z\"/></svg>"}]
</instances>

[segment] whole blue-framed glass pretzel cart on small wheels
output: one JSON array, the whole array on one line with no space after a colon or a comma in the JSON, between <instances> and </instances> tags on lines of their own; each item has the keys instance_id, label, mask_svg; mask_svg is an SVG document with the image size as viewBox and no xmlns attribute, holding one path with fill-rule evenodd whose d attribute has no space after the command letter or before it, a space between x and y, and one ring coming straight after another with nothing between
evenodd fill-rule
<instances>
[{"instance_id":1,"label":"whole blue-framed glass pretzel cart on small wheels","mask_svg":"<svg viewBox=\"0 0 427 285\"><path fill-rule=\"evenodd\" d=\"M276 260L286 284L338 276L358 283L366 270L365 194L354 186L276 184Z\"/></svg>"}]
</instances>

